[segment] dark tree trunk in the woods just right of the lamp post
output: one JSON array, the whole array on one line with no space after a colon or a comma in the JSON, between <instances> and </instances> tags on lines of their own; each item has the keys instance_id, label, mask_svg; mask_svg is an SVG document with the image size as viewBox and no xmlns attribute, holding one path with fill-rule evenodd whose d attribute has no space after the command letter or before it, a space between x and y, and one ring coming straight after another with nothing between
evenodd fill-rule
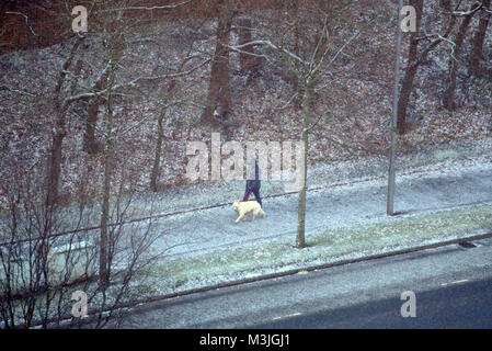
<instances>
[{"instance_id":1,"label":"dark tree trunk in the woods just right of the lamp post","mask_svg":"<svg viewBox=\"0 0 492 351\"><path fill-rule=\"evenodd\" d=\"M398 118L397 128L400 135L405 133L405 118L407 118L407 107L409 106L410 95L413 89L413 80L415 78L417 65L417 50L419 50L419 35L420 35L420 23L422 19L422 11L424 7L423 0L410 0L410 5L415 8L416 14L416 30L412 32L410 36L410 48L409 48L409 61L405 69L405 75L403 82L401 84L400 99L398 101ZM398 24L400 25L400 23Z\"/></svg>"}]
</instances>

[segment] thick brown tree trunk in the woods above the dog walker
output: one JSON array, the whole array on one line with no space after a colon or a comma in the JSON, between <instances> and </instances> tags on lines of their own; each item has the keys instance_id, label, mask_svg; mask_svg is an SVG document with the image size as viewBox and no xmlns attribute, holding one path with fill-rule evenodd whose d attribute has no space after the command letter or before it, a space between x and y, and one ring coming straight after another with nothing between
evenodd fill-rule
<instances>
[{"instance_id":1,"label":"thick brown tree trunk in the woods above the dog walker","mask_svg":"<svg viewBox=\"0 0 492 351\"><path fill-rule=\"evenodd\" d=\"M227 114L230 105L230 82L229 82L229 52L230 29L232 25L232 14L218 16L217 41L211 63L210 82L208 86L208 97L201 121L203 123L217 125L220 121L214 118L214 111L220 104L222 115Z\"/></svg>"}]
</instances>

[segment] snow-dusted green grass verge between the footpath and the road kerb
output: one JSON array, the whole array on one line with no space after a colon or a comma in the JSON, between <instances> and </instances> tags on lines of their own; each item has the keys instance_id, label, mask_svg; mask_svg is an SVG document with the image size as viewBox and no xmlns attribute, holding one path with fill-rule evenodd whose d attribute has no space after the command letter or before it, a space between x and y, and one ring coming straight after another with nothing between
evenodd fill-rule
<instances>
[{"instance_id":1,"label":"snow-dusted green grass verge between the footpath and the road kerb","mask_svg":"<svg viewBox=\"0 0 492 351\"><path fill-rule=\"evenodd\" d=\"M293 247L291 240L284 238L216 250L162 261L142 274L139 284L147 286L145 295L151 296L456 239L491 230L491 214L492 204L487 204L388 217L376 224L308 235L305 249Z\"/></svg>"}]
</instances>

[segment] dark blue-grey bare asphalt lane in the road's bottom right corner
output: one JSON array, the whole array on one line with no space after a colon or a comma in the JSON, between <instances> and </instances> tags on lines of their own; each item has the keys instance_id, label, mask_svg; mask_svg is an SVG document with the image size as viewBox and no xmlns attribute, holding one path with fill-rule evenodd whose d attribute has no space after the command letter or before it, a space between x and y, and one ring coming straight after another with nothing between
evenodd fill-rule
<instances>
[{"instance_id":1,"label":"dark blue-grey bare asphalt lane in the road's bottom right corner","mask_svg":"<svg viewBox=\"0 0 492 351\"><path fill-rule=\"evenodd\" d=\"M251 326L262 329L313 328L492 328L492 279L458 282L456 285L415 295L415 314L402 316L402 305L410 301L387 298L335 310L320 310L301 316ZM410 308L410 307L409 307ZM403 308L404 312L410 309Z\"/></svg>"}]
</instances>

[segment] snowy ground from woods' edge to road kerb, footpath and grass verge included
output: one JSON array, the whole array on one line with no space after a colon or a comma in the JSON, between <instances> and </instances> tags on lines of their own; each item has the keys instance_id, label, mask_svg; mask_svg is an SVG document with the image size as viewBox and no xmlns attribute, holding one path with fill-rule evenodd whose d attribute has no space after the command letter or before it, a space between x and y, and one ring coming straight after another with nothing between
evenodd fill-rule
<instances>
[{"instance_id":1,"label":"snowy ground from woods' edge to road kerb, footpath and grass verge included","mask_svg":"<svg viewBox=\"0 0 492 351\"><path fill-rule=\"evenodd\" d=\"M394 206L401 215L394 217L386 215L382 159L327 166L345 172L343 179L312 170L311 174L318 172L312 177L314 185L325 186L308 192L310 247L304 250L294 248L297 194L265 199L266 217L253 223L234 224L237 215L229 204L168 217L157 230L173 229L152 249L172 248L141 284L149 295L165 294L490 231L490 150L488 140L474 148L458 146L401 157ZM346 178L347 173L353 178ZM206 199L206 194L194 199Z\"/></svg>"}]
</instances>

